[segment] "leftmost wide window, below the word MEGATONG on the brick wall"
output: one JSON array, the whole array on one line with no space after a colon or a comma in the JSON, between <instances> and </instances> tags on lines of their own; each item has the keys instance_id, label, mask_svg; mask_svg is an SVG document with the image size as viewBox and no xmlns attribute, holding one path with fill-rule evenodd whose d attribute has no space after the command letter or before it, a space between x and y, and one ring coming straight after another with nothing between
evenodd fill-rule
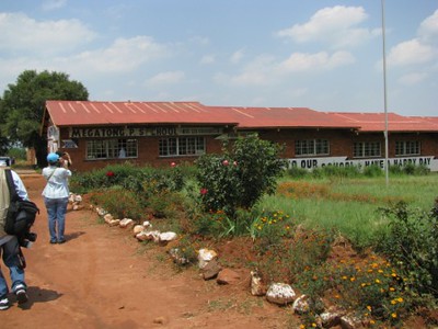
<instances>
[{"instance_id":1,"label":"leftmost wide window, below the word MEGATONG on the brick wall","mask_svg":"<svg viewBox=\"0 0 438 329\"><path fill-rule=\"evenodd\" d=\"M87 159L137 158L137 139L87 140Z\"/></svg>"}]
</instances>

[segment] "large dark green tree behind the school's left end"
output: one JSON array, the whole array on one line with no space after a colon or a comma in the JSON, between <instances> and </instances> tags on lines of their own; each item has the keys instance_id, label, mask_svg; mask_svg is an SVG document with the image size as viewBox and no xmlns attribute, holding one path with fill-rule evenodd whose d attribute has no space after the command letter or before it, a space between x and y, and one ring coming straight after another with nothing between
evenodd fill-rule
<instances>
[{"instance_id":1,"label":"large dark green tree behind the school's left end","mask_svg":"<svg viewBox=\"0 0 438 329\"><path fill-rule=\"evenodd\" d=\"M62 72L37 73L25 70L0 99L0 137L35 148L38 167L46 163L47 140L41 136L47 100L87 101L89 92L81 82L70 81Z\"/></svg>"}]
</instances>

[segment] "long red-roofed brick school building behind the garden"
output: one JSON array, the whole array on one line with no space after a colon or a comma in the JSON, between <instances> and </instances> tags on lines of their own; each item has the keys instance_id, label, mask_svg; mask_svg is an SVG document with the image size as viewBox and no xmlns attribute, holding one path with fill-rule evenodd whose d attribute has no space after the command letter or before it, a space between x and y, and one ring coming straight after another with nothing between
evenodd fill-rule
<instances>
[{"instance_id":1,"label":"long red-roofed brick school building behind the garden","mask_svg":"<svg viewBox=\"0 0 438 329\"><path fill-rule=\"evenodd\" d=\"M388 128L387 128L388 123ZM308 107L207 106L198 102L47 101L47 151L68 151L73 170L110 163L169 166L220 152L223 139L257 133L285 145L290 166L384 168L424 164L438 171L438 116L320 112Z\"/></svg>"}]
</instances>

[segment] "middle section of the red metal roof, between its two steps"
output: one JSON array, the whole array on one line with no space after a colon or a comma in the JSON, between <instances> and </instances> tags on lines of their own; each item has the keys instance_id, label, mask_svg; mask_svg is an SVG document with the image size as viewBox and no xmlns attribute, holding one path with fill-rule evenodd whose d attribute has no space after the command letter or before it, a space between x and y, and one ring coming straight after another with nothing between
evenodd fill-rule
<instances>
[{"instance_id":1,"label":"middle section of the red metal roof, between its two steps","mask_svg":"<svg viewBox=\"0 0 438 329\"><path fill-rule=\"evenodd\" d=\"M358 128L360 125L308 107L210 106L239 128Z\"/></svg>"}]
</instances>

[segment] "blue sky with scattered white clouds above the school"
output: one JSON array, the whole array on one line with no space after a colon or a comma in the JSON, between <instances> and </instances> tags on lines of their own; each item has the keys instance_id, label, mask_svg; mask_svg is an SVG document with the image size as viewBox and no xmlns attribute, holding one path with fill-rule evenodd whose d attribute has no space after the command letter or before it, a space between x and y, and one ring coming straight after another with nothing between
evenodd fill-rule
<instances>
[{"instance_id":1,"label":"blue sky with scattered white clouds above the school","mask_svg":"<svg viewBox=\"0 0 438 329\"><path fill-rule=\"evenodd\" d=\"M0 0L0 97L48 70L90 101L438 116L438 0Z\"/></svg>"}]
</instances>

